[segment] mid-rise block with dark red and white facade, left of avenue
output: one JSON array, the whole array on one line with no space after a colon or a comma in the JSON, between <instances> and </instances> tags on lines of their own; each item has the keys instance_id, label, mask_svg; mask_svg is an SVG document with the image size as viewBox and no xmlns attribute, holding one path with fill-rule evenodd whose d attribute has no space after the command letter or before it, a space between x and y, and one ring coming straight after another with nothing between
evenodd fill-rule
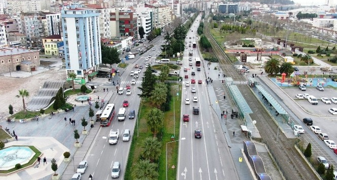
<instances>
[{"instance_id":1,"label":"mid-rise block with dark red and white facade, left of avenue","mask_svg":"<svg viewBox=\"0 0 337 180\"><path fill-rule=\"evenodd\" d=\"M111 37L131 36L137 39L137 14L131 10L115 8L110 11Z\"/></svg>"}]
</instances>

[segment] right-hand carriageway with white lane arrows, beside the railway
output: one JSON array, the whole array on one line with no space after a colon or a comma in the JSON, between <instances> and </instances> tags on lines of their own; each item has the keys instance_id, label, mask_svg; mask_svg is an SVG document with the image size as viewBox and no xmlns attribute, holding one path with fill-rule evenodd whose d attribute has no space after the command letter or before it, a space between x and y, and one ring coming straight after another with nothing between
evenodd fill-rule
<instances>
[{"instance_id":1,"label":"right-hand carriageway with white lane arrows, beside the railway","mask_svg":"<svg viewBox=\"0 0 337 180\"><path fill-rule=\"evenodd\" d=\"M197 41L196 32L200 19L199 15L189 29L185 45L190 44L190 41ZM190 49L193 50L193 55L189 55ZM192 57L192 61L189 61L189 57ZM201 71L197 71L197 58L200 58L197 48L185 48L182 66L188 70L181 73L183 77L188 75L188 78L183 79L181 121L183 114L188 114L189 122L180 124L180 137L184 140L180 140L179 145L177 179L239 179L218 116L210 106L203 66L205 62L201 61ZM189 65L190 62L192 66ZM195 75L191 75L192 72ZM195 84L191 83L191 79L195 79ZM198 84L198 80L203 83ZM189 82L190 86L186 86L185 82ZM191 92L193 87L196 88L195 93ZM198 102L193 102L193 97L197 97ZM185 104L185 99L190 99L191 103ZM199 114L193 114L193 107L199 107ZM194 137L195 130L201 130L201 138Z\"/></svg>"}]
</instances>

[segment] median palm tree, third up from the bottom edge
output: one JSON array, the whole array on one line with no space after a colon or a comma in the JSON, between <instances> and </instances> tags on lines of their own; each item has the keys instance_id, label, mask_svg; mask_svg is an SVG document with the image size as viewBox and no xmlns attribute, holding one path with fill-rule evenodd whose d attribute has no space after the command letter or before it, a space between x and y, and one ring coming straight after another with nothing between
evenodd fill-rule
<instances>
[{"instance_id":1,"label":"median palm tree, third up from the bottom edge","mask_svg":"<svg viewBox=\"0 0 337 180\"><path fill-rule=\"evenodd\" d=\"M156 137L156 134L163 126L164 113L161 112L158 108L153 108L147 115L147 126L152 132L153 137Z\"/></svg>"}]
</instances>

